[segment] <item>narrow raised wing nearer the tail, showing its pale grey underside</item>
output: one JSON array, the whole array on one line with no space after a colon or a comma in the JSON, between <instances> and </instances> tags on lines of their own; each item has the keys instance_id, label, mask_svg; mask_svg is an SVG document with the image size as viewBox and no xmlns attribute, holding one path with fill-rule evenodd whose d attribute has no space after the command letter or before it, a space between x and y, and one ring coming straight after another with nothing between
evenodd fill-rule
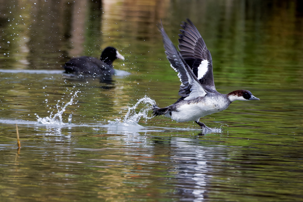
<instances>
[{"instance_id":1,"label":"narrow raised wing nearer the tail, showing its pale grey underside","mask_svg":"<svg viewBox=\"0 0 303 202\"><path fill-rule=\"evenodd\" d=\"M171 67L178 72L178 77L181 81L179 95L186 97L184 98L185 100L204 97L207 92L169 39L163 28L162 22L161 25L158 24L158 28L163 37L165 54L167 55L166 58L171 63Z\"/></svg>"}]
</instances>

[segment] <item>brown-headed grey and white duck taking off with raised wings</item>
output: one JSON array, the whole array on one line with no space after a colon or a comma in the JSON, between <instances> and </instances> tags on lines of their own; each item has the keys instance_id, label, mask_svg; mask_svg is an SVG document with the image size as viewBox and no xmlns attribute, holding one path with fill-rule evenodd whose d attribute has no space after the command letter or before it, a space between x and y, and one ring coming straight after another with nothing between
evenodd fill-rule
<instances>
[{"instance_id":1,"label":"brown-headed grey and white duck taking off with raised wings","mask_svg":"<svg viewBox=\"0 0 303 202\"><path fill-rule=\"evenodd\" d=\"M153 105L153 114L165 115L178 122L195 121L202 129L210 129L199 121L201 117L223 111L236 100L260 99L247 90L236 90L228 94L221 94L216 90L211 54L195 25L189 19L187 21L183 22L181 25L183 29L180 29L178 39L180 51L169 39L162 22L158 24L166 58L171 67L178 72L181 81L178 93L181 98L165 108Z\"/></svg>"}]
</instances>

